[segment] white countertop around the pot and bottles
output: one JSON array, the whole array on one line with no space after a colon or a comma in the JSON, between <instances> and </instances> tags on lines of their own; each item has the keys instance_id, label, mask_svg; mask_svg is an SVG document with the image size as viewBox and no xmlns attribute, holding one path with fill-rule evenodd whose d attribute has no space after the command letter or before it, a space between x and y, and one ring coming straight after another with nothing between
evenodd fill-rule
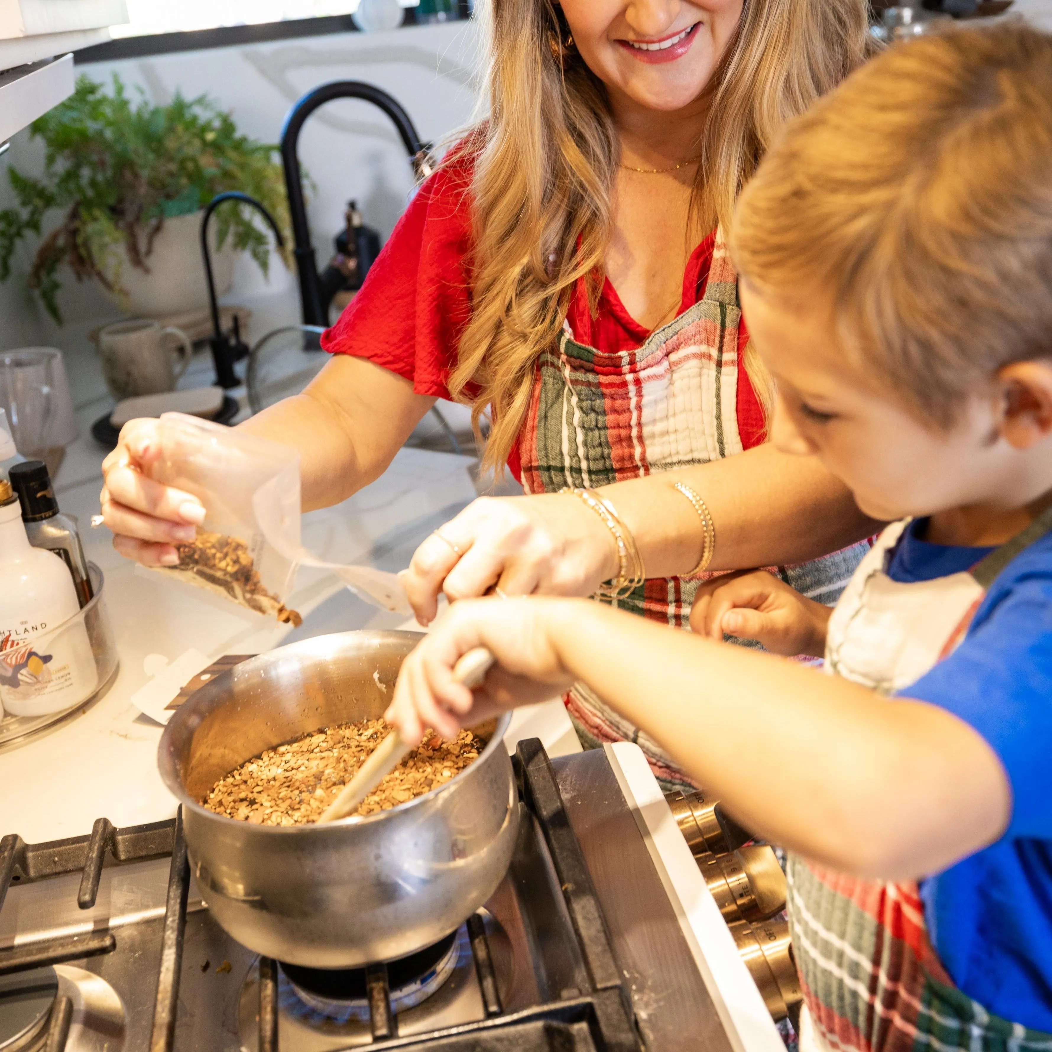
<instances>
[{"instance_id":1,"label":"white countertop around the pot and bottles","mask_svg":"<svg viewBox=\"0 0 1052 1052\"><path fill-rule=\"evenodd\" d=\"M0 835L19 833L31 844L84 835L98 817L121 827L175 814L175 798L157 770L163 728L130 701L148 680L143 667L148 655L170 662L194 648L215 660L326 632L414 627L358 599L324 571L300 570L287 605L304 622L290 629L122 559L107 529L88 526L99 510L106 452L90 438L89 427L113 400L89 351L67 351L66 367L79 397L80 438L66 450L56 495L63 511L79 518L84 551L105 574L121 664L109 690L82 714L0 752ZM180 386L207 384L210 377L210 359L199 353ZM467 457L403 448L377 482L342 504L304 515L303 543L328 561L402 569L431 530L476 498L468 473L472 463ZM580 749L558 702L520 710L509 733L509 745L537 734L553 754Z\"/></svg>"}]
</instances>

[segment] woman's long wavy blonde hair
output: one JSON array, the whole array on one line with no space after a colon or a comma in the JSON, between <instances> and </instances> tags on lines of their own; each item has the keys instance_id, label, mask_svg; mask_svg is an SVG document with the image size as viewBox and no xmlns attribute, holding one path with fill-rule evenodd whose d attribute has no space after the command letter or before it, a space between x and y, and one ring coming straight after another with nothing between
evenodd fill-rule
<instances>
[{"instance_id":1,"label":"woman's long wavy blonde hair","mask_svg":"<svg viewBox=\"0 0 1052 1052\"><path fill-rule=\"evenodd\" d=\"M560 60L565 31L553 0L488 6L489 116L468 142L472 310L449 390L470 404L477 433L489 411L483 466L501 471L574 283L585 278L593 309L598 302L620 143L602 82L573 53ZM709 86L701 217L729 225L778 127L865 60L867 12L867 0L746 0Z\"/></svg>"}]
</instances>

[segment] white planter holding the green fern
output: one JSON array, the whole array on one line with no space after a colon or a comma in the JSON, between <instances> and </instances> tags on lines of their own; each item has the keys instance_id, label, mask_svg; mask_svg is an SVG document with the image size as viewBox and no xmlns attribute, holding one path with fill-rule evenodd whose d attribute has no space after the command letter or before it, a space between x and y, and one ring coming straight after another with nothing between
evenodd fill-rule
<instances>
[{"instance_id":1,"label":"white planter holding the green fern","mask_svg":"<svg viewBox=\"0 0 1052 1052\"><path fill-rule=\"evenodd\" d=\"M100 282L99 287L106 299L138 318L167 318L207 308L208 285L201 259L201 216L202 213L197 211L164 221L154 239L154 250L145 260L148 274L132 265L123 245L116 248L103 271L127 295L122 297L113 292ZM229 239L222 250L216 250L217 228L218 220L214 219L208 240L216 295L222 296L230 290L239 252Z\"/></svg>"}]
</instances>

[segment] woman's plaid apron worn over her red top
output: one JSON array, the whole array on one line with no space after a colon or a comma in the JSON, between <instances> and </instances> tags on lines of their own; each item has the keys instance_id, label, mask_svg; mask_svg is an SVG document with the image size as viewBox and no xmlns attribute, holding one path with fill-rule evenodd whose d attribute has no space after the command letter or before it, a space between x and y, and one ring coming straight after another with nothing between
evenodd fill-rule
<instances>
[{"instance_id":1,"label":"woman's plaid apron worn over her red top","mask_svg":"<svg viewBox=\"0 0 1052 1052\"><path fill-rule=\"evenodd\" d=\"M652 332L639 349L607 353L564 332L558 347L541 355L521 432L526 492L606 486L741 452L741 318L737 276L717 230L702 299ZM763 529L763 523L757 522L756 528ZM832 603L868 550L868 544L857 544L814 562L780 567L777 572L805 595ZM614 605L686 627L697 584L655 578ZM638 742L666 788L691 786L655 742L587 688L575 686L566 705L586 747Z\"/></svg>"}]
</instances>

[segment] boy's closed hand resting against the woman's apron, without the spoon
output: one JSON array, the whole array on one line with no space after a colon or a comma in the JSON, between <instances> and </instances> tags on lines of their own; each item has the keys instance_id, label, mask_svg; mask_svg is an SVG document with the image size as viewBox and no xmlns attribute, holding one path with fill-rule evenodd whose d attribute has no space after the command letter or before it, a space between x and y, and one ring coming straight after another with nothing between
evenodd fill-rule
<instances>
[{"instance_id":1,"label":"boy's closed hand resting against the woman's apron, without the spoon","mask_svg":"<svg viewBox=\"0 0 1052 1052\"><path fill-rule=\"evenodd\" d=\"M706 581L694 598L690 627L699 635L756 640L771 653L822 658L832 609L806 599L766 570Z\"/></svg>"}]
</instances>

